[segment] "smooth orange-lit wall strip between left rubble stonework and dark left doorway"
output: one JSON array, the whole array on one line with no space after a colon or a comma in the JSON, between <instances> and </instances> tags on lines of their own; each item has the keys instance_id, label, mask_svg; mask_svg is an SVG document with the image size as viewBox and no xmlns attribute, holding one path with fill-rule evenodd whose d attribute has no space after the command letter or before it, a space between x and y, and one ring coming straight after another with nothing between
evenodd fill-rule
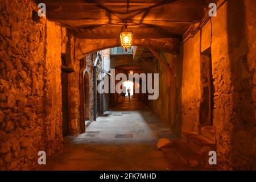
<instances>
[{"instance_id":1,"label":"smooth orange-lit wall strip between left rubble stonework and dark left doorway","mask_svg":"<svg viewBox=\"0 0 256 182\"><path fill-rule=\"evenodd\" d=\"M44 96L45 141L48 155L55 154L62 141L61 27L46 22L46 65ZM40 78L37 79L40 82ZM40 89L40 88L39 88ZM44 95L45 94L45 95ZM56 148L57 147L57 148Z\"/></svg>"}]
</instances>

